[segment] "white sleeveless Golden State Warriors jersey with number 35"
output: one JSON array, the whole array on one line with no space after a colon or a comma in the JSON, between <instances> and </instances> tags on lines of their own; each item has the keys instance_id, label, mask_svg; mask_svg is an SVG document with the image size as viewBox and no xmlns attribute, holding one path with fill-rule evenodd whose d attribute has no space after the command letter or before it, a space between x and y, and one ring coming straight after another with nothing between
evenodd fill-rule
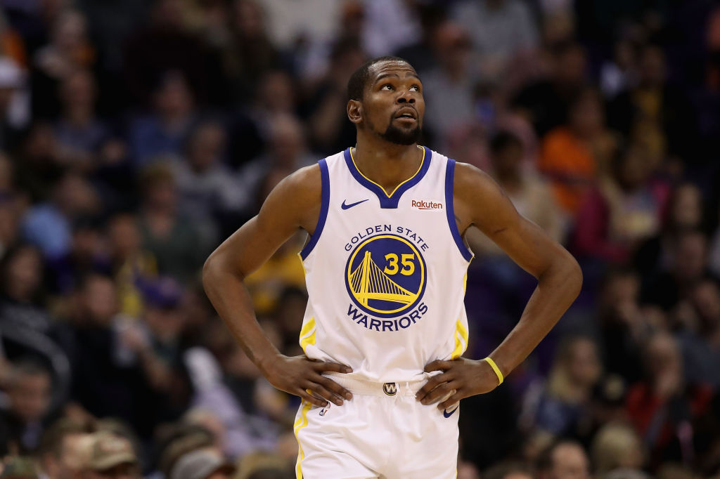
<instances>
[{"instance_id":1,"label":"white sleeveless Golden State Warriors jersey with number 35","mask_svg":"<svg viewBox=\"0 0 720 479\"><path fill-rule=\"evenodd\" d=\"M455 222L455 162L422 149L418 171L390 195L350 149L319 162L320 218L300 252L309 294L300 345L354 378L421 380L428 362L467 349L472 252Z\"/></svg>"}]
</instances>

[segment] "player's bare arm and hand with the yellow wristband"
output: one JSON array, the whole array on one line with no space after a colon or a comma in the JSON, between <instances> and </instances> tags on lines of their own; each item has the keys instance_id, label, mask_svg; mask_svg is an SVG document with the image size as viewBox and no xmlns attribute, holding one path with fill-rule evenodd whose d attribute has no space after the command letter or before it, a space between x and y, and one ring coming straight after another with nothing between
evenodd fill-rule
<instances>
[{"instance_id":1,"label":"player's bare arm and hand with the yellow wristband","mask_svg":"<svg viewBox=\"0 0 720 479\"><path fill-rule=\"evenodd\" d=\"M525 360L575 301L582 273L575 258L518 214L495 181L477 168L456 165L454 206L461 232L477 227L538 280L520 321L490 355L505 376ZM433 403L456 391L440 404L441 409L498 385L497 376L485 361L433 361L426 370L442 370L444 374L434 376L420 390L418 399L423 403Z\"/></svg>"}]
</instances>

